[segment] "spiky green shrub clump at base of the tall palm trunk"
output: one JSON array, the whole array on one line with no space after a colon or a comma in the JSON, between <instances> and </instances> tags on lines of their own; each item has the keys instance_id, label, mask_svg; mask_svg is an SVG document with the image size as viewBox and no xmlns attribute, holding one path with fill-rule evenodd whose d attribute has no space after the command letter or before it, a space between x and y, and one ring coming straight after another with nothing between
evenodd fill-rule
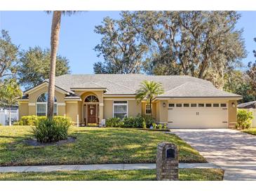
<instances>
[{"instance_id":1,"label":"spiky green shrub clump at base of the tall palm trunk","mask_svg":"<svg viewBox=\"0 0 256 192\"><path fill-rule=\"evenodd\" d=\"M72 125L70 118L58 117L53 120L40 118L38 125L33 128L33 133L38 142L58 142L67 139L70 125Z\"/></svg>"}]
</instances>

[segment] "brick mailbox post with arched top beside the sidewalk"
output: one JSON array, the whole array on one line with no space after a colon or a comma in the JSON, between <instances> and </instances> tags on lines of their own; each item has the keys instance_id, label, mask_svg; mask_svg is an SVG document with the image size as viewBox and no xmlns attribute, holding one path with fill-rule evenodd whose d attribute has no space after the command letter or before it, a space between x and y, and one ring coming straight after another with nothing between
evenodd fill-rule
<instances>
[{"instance_id":1,"label":"brick mailbox post with arched top beside the sidewalk","mask_svg":"<svg viewBox=\"0 0 256 192\"><path fill-rule=\"evenodd\" d=\"M177 146L163 142L156 149L156 179L177 181L179 179L179 159Z\"/></svg>"}]
</instances>

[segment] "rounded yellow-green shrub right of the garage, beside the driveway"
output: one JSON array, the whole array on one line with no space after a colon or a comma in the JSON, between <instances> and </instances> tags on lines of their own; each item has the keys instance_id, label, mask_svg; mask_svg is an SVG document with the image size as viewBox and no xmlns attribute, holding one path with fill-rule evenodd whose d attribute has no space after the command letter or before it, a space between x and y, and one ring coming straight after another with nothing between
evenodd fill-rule
<instances>
[{"instance_id":1,"label":"rounded yellow-green shrub right of the garage, beside the driveway","mask_svg":"<svg viewBox=\"0 0 256 192\"><path fill-rule=\"evenodd\" d=\"M248 129L252 123L252 112L247 111L246 109L238 109L237 111L237 129Z\"/></svg>"}]
</instances>

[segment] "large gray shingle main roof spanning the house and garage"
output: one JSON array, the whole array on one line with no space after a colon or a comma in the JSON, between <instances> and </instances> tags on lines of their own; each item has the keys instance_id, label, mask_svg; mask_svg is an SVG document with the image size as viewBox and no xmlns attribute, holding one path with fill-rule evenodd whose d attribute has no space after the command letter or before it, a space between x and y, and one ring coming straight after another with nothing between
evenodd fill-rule
<instances>
[{"instance_id":1,"label":"large gray shingle main roof spanning the house and garage","mask_svg":"<svg viewBox=\"0 0 256 192\"><path fill-rule=\"evenodd\" d=\"M148 76L144 74L67 74L55 78L55 85L72 88L107 88L105 95L134 95L143 80L163 83L161 97L241 97L218 90L210 81L191 76Z\"/></svg>"}]
</instances>

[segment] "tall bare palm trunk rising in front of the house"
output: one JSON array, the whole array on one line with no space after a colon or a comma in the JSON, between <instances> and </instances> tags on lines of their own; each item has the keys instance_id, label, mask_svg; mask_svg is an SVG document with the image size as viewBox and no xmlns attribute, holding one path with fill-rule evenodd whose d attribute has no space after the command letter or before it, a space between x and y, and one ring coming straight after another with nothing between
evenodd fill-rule
<instances>
[{"instance_id":1,"label":"tall bare palm trunk rising in front of the house","mask_svg":"<svg viewBox=\"0 0 256 192\"><path fill-rule=\"evenodd\" d=\"M55 66L60 37L61 11L53 11L53 20L50 34L50 74L48 84L47 118L53 118L55 92Z\"/></svg>"}]
</instances>

